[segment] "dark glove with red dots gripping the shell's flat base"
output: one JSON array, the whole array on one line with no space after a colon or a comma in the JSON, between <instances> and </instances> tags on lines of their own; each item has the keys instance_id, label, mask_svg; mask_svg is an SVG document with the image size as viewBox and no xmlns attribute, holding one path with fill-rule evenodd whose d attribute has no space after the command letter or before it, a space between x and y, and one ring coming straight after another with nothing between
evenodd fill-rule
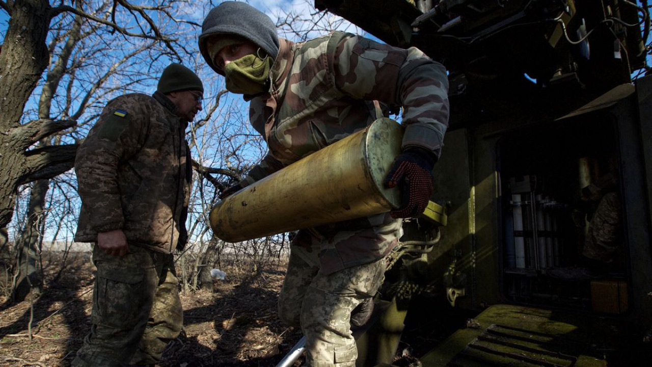
<instances>
[{"instance_id":1,"label":"dark glove with red dots gripping the shell's flat base","mask_svg":"<svg viewBox=\"0 0 652 367\"><path fill-rule=\"evenodd\" d=\"M385 178L385 186L398 186L401 191L401 206L391 212L394 218L416 217L426 210L435 162L434 153L421 148L408 148L396 157Z\"/></svg>"}]
</instances>

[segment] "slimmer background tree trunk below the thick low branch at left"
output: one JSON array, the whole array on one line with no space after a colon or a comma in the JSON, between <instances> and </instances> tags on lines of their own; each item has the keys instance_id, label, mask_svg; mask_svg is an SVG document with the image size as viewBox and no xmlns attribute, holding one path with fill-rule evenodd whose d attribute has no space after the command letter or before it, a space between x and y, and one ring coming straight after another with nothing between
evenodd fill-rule
<instances>
[{"instance_id":1,"label":"slimmer background tree trunk below the thick low branch at left","mask_svg":"<svg viewBox=\"0 0 652 367\"><path fill-rule=\"evenodd\" d=\"M29 195L29 208L25 229L16 248L18 249L18 266L16 271L16 285L14 285L12 298L14 302L22 302L31 292L33 298L40 295L43 283L39 264L42 238L40 223L45 220L43 208L46 195L50 187L50 180L34 182Z\"/></svg>"}]
</instances>

